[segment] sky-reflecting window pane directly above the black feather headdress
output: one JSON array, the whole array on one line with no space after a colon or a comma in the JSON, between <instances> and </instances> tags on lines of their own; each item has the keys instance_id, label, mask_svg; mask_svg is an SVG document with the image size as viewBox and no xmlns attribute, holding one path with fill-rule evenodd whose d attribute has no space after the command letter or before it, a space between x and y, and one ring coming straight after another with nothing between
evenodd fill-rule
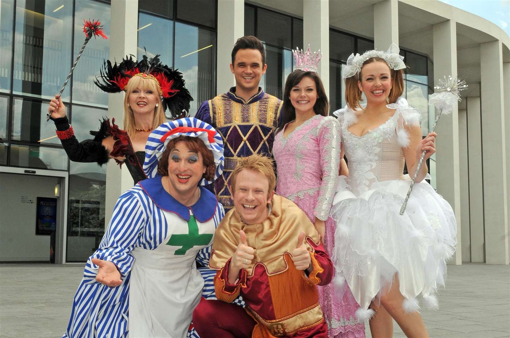
<instances>
[{"instance_id":1,"label":"sky-reflecting window pane directly above the black feather headdress","mask_svg":"<svg viewBox=\"0 0 510 338\"><path fill-rule=\"evenodd\" d=\"M138 60L142 59L142 55L147 50L146 55L149 58L160 54L161 62L171 67L173 63L173 21L140 13L138 15L138 30Z\"/></svg>"}]
</instances>

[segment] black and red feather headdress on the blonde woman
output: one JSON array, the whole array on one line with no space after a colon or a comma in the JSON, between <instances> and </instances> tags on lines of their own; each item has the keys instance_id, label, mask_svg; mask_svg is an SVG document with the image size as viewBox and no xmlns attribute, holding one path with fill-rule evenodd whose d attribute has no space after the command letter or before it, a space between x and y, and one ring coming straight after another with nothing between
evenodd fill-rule
<instances>
[{"instance_id":1,"label":"black and red feather headdress on the blonde woman","mask_svg":"<svg viewBox=\"0 0 510 338\"><path fill-rule=\"evenodd\" d=\"M100 70L101 75L94 80L95 85L107 93L119 93L133 76L151 78L158 83L163 109L168 109L173 118L181 116L183 110L189 110L193 98L184 86L181 72L163 65L159 54L151 59L143 55L138 62L133 60L133 56L129 59L126 56L121 63L114 65L110 60L105 61L103 69Z\"/></svg>"}]
</instances>

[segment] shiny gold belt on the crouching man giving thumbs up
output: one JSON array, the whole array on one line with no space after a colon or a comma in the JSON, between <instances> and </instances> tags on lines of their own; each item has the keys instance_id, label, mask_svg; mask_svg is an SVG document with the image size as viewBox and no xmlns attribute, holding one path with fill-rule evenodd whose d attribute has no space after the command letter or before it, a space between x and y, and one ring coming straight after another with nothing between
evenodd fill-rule
<instances>
[{"instance_id":1,"label":"shiny gold belt on the crouching man giving thumbs up","mask_svg":"<svg viewBox=\"0 0 510 338\"><path fill-rule=\"evenodd\" d=\"M298 330L314 327L324 320L318 303L275 320L265 320L251 309L250 313L275 336L292 335Z\"/></svg>"}]
</instances>

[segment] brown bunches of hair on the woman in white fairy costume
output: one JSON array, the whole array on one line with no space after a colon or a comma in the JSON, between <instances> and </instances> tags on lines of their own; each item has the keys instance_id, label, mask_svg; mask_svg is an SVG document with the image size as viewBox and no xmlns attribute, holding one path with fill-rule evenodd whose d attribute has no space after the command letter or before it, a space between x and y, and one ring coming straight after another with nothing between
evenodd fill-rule
<instances>
[{"instance_id":1,"label":"brown bunches of hair on the woman in white fairy costume","mask_svg":"<svg viewBox=\"0 0 510 338\"><path fill-rule=\"evenodd\" d=\"M384 59L370 58L363 63L361 69L363 69L365 65L372 62L384 62L386 65L388 65ZM390 68L391 90L390 95L388 96L389 103L397 102L397 99L404 92L404 78L402 74L402 69L393 70ZM361 71L360 73L356 73L355 75L345 79L345 102L347 102L347 105L351 109L361 108L360 101L362 91L360 91L360 88L358 87L358 81L361 82Z\"/></svg>"}]
</instances>

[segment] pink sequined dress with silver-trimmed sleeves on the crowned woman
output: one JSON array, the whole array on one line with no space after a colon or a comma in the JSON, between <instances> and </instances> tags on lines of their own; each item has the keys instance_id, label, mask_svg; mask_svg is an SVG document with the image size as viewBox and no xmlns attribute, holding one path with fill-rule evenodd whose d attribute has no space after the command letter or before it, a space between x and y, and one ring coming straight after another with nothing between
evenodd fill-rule
<instances>
[{"instance_id":1,"label":"pink sequined dress with silver-trimmed sleeves on the crowned woman","mask_svg":"<svg viewBox=\"0 0 510 338\"><path fill-rule=\"evenodd\" d=\"M294 202L312 222L324 220L324 244L333 252L335 221L329 217L340 166L340 125L334 117L316 115L273 144L278 182L276 193ZM354 317L359 305L347 283L319 287L319 301L329 337L364 337L365 325Z\"/></svg>"}]
</instances>

